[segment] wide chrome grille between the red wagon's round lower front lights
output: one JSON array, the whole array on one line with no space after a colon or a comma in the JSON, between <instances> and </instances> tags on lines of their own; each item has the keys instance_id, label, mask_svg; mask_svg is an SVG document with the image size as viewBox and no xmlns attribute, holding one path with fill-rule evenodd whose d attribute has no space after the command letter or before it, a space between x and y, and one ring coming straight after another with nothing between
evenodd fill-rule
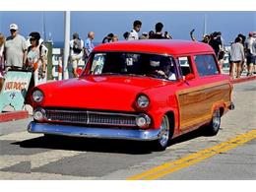
<instances>
[{"instance_id":1,"label":"wide chrome grille between the red wagon's round lower front lights","mask_svg":"<svg viewBox=\"0 0 256 192\"><path fill-rule=\"evenodd\" d=\"M48 121L87 125L136 126L136 114L45 109Z\"/></svg>"}]
</instances>

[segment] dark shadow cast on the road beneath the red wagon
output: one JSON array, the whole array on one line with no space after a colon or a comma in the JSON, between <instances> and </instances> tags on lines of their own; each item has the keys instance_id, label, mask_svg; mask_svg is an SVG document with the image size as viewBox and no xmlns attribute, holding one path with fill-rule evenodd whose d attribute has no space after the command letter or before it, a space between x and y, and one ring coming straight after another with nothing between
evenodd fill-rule
<instances>
[{"instance_id":1,"label":"dark shadow cast on the road beneath the red wagon","mask_svg":"<svg viewBox=\"0 0 256 192\"><path fill-rule=\"evenodd\" d=\"M204 130L198 129L193 132L184 134L169 142L171 149L172 145L192 140L198 137L207 137ZM65 136L43 136L22 142L13 143L20 145L22 148L42 148L55 150L70 150L82 152L100 152L100 153L119 153L143 155L151 154L157 151L152 142L138 142L125 140L107 140L107 139L88 139Z\"/></svg>"}]
</instances>

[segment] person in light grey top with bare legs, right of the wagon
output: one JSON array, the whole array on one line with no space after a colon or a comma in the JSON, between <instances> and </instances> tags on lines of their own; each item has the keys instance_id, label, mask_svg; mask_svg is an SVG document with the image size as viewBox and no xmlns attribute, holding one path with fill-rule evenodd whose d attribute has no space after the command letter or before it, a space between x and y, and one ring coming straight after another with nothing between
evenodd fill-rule
<instances>
[{"instance_id":1,"label":"person in light grey top with bare legs, right of the wagon","mask_svg":"<svg viewBox=\"0 0 256 192\"><path fill-rule=\"evenodd\" d=\"M242 45L242 39L236 37L234 43L231 44L230 50L230 70L229 75L234 79L234 73L236 71L236 78L240 78L241 65L244 61L244 50Z\"/></svg>"}]
</instances>

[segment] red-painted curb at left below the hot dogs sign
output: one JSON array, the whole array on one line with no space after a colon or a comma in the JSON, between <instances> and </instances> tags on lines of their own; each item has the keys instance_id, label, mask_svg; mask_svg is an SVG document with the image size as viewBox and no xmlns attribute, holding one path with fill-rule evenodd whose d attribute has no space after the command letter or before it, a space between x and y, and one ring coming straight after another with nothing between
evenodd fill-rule
<instances>
[{"instance_id":1,"label":"red-painted curb at left below the hot dogs sign","mask_svg":"<svg viewBox=\"0 0 256 192\"><path fill-rule=\"evenodd\" d=\"M14 121L26 118L29 118L29 112L27 110L0 113L0 122Z\"/></svg>"}]
</instances>

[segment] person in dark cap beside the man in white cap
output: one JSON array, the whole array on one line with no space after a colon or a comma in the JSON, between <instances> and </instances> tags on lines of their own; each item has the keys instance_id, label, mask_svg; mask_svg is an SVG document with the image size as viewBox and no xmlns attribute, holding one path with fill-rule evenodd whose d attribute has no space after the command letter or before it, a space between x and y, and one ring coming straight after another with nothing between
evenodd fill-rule
<instances>
[{"instance_id":1,"label":"person in dark cap beside the man in white cap","mask_svg":"<svg viewBox=\"0 0 256 192\"><path fill-rule=\"evenodd\" d=\"M47 48L39 43L39 32L30 33L31 46L28 48L26 68L32 70L34 86L46 82Z\"/></svg>"}]
</instances>

